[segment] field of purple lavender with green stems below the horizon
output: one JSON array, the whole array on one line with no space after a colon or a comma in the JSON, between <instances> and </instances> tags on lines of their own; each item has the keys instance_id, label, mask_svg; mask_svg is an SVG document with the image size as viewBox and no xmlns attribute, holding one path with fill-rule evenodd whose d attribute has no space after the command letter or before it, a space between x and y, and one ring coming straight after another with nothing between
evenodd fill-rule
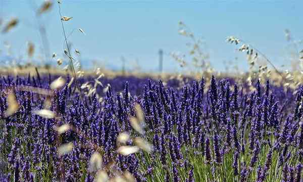
<instances>
[{"instance_id":1,"label":"field of purple lavender with green stems below the horizon","mask_svg":"<svg viewBox=\"0 0 303 182\"><path fill-rule=\"evenodd\" d=\"M182 86L178 80L165 84L116 77L103 78L104 84L112 85L106 93L97 87L102 101L95 94L82 97L75 83L56 90L51 98L20 89L48 89L54 78L0 78L1 181L58 180L62 175L66 181L93 181L89 159L96 148L103 151L103 168L111 168L110 178L129 171L136 181L301 180L303 86L294 95L294 90L285 92L270 81L263 86L258 80L256 91L250 91L245 84L214 76ZM20 107L5 117L8 89L15 90ZM59 121L33 114L48 99ZM138 136L129 122L136 103L145 115L144 138L154 145L154 152L123 156L117 153L117 137L123 131ZM54 130L61 124L77 130L61 134L61 143L74 145L62 157Z\"/></svg>"}]
</instances>

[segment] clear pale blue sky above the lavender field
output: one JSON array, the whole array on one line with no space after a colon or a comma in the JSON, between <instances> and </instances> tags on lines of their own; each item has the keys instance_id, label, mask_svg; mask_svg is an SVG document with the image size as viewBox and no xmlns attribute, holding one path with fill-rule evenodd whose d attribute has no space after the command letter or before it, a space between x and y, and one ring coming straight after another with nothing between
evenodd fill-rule
<instances>
[{"instance_id":1,"label":"clear pale blue sky above the lavender field","mask_svg":"<svg viewBox=\"0 0 303 182\"><path fill-rule=\"evenodd\" d=\"M1 15L6 20L18 17L20 24L7 34L0 35L0 49L4 42L12 44L14 55L24 55L26 41L40 47L35 28L35 14L31 0L0 0ZM35 1L40 5L42 1ZM43 15L51 52L62 56L63 36L56 1L51 12ZM284 30L294 39L303 39L303 1L90 1L62 0L67 32L82 28L86 35L74 31L69 39L81 52L82 64L98 63L121 67L121 56L127 65L134 60L144 70L158 67L158 50L164 50L164 70L172 71L178 64L171 52L188 53L188 39L178 34L178 22L184 22L195 36L203 37L212 65L224 69L224 61L235 60L247 69L245 57L236 47L225 42L229 35L238 36L255 45L277 66L289 65ZM303 49L303 46L301 46ZM38 50L39 52L39 50ZM60 54L59 54L60 53ZM35 56L38 56L37 54ZM130 66L129 66L130 67Z\"/></svg>"}]
</instances>

